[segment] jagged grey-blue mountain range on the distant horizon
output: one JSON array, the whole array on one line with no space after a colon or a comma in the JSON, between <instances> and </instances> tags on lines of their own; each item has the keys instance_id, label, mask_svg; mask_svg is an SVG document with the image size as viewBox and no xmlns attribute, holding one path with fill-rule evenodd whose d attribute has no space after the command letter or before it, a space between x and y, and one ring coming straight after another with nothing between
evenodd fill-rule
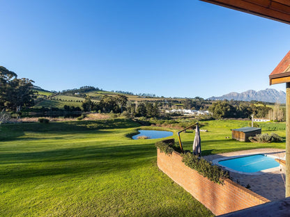
<instances>
[{"instance_id":1,"label":"jagged grey-blue mountain range on the distant horizon","mask_svg":"<svg viewBox=\"0 0 290 217\"><path fill-rule=\"evenodd\" d=\"M210 100L241 100L241 101L252 101L257 100L260 102L280 102L282 104L286 103L286 93L282 90L278 91L275 89L267 88L266 90L247 90L243 93L228 93L222 95L221 97L210 97Z\"/></svg>"}]
</instances>

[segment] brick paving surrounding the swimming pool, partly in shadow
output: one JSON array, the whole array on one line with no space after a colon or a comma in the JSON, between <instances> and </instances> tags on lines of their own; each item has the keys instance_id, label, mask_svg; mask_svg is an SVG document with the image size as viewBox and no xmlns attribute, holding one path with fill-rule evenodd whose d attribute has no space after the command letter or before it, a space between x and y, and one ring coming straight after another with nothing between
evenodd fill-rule
<instances>
[{"instance_id":1,"label":"brick paving surrounding the swimming pool, partly in shadow","mask_svg":"<svg viewBox=\"0 0 290 217\"><path fill-rule=\"evenodd\" d=\"M268 154L277 156L277 158L285 158L285 150L274 148L262 148L255 150L244 150L239 152L229 152L223 154L212 154L204 156L207 161L214 161L228 156L241 156L247 154ZM267 198L268 200L279 200L285 198L285 168L270 169L267 172L257 172L258 175L247 175L237 172L229 172L232 180L241 186L250 185L250 190Z\"/></svg>"}]
</instances>

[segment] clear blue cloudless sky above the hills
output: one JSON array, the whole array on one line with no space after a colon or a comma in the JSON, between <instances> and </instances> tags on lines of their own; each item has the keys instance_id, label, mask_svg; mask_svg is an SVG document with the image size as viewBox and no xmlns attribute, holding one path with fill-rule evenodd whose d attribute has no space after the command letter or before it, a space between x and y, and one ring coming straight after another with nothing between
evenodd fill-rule
<instances>
[{"instance_id":1,"label":"clear blue cloudless sky above the hills","mask_svg":"<svg viewBox=\"0 0 290 217\"><path fill-rule=\"evenodd\" d=\"M290 26L197 0L1 1L0 65L47 90L165 97L284 90Z\"/></svg>"}]
</instances>

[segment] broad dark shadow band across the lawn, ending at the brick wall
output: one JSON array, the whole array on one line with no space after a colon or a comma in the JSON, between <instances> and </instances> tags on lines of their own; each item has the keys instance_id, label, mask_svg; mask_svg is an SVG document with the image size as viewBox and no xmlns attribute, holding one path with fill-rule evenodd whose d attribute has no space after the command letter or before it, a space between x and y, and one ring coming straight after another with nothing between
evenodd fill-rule
<instances>
[{"instance_id":1,"label":"broad dark shadow band across the lawn, ending at the brick wall","mask_svg":"<svg viewBox=\"0 0 290 217\"><path fill-rule=\"evenodd\" d=\"M43 152L1 153L0 163L10 165L3 166L2 171L0 170L0 180L10 182L13 179L31 177L122 172L150 163L155 155L156 150L152 144L117 147L86 146Z\"/></svg>"}]
</instances>

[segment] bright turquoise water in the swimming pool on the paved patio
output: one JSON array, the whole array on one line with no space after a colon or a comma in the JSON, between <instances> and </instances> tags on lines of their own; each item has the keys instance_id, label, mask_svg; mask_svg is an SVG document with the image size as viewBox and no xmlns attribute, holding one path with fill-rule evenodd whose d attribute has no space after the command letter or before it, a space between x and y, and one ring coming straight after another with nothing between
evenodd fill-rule
<instances>
[{"instance_id":1,"label":"bright turquoise water in the swimming pool on the paved patio","mask_svg":"<svg viewBox=\"0 0 290 217\"><path fill-rule=\"evenodd\" d=\"M242 156L235 159L219 161L218 163L239 172L258 172L280 166L275 159L264 154Z\"/></svg>"}]
</instances>

